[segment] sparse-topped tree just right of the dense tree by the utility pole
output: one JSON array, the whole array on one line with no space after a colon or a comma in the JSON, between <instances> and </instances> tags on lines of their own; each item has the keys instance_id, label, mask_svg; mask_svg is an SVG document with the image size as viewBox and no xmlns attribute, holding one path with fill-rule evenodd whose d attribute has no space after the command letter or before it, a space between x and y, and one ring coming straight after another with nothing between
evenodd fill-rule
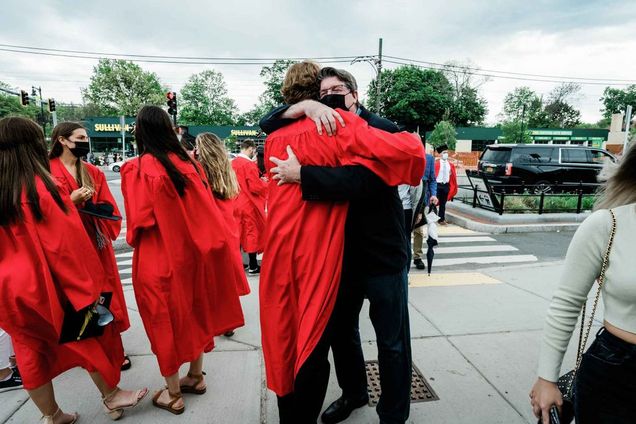
<instances>
[{"instance_id":1,"label":"sparse-topped tree just right of the dense tree by the utility pole","mask_svg":"<svg viewBox=\"0 0 636 424\"><path fill-rule=\"evenodd\" d=\"M474 126L484 122L488 102L479 95L479 87L490 77L475 75L478 68L471 63L447 62L442 72L453 88L453 104L449 120L456 126Z\"/></svg>"}]
</instances>

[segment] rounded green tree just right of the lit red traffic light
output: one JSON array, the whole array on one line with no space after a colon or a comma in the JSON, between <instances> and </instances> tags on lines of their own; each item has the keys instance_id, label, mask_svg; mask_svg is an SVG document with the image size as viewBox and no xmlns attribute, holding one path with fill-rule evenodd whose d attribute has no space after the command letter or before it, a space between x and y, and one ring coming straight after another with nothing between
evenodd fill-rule
<instances>
[{"instance_id":1,"label":"rounded green tree just right of the lit red traffic light","mask_svg":"<svg viewBox=\"0 0 636 424\"><path fill-rule=\"evenodd\" d=\"M180 120L185 125L234 125L238 108L228 97L223 74L209 69L192 74L181 89Z\"/></svg>"}]
</instances>

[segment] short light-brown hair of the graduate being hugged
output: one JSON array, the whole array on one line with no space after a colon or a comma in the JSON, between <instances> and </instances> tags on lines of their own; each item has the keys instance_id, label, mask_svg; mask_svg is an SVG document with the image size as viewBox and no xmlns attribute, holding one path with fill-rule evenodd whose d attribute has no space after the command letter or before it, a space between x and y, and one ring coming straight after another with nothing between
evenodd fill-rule
<instances>
[{"instance_id":1,"label":"short light-brown hair of the graduate being hugged","mask_svg":"<svg viewBox=\"0 0 636 424\"><path fill-rule=\"evenodd\" d=\"M316 100L320 93L320 65L310 60L294 63L289 67L280 89L285 103L294 104L301 100Z\"/></svg>"}]
</instances>

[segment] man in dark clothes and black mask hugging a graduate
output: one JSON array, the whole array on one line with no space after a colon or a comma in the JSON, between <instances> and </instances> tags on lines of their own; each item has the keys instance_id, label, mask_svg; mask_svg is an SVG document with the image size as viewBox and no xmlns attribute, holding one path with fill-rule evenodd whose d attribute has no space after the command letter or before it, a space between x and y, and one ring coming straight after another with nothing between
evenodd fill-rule
<instances>
[{"instance_id":1,"label":"man in dark clothes and black mask hugging a graduate","mask_svg":"<svg viewBox=\"0 0 636 424\"><path fill-rule=\"evenodd\" d=\"M263 131L271 133L306 115L316 122L319 132L324 126L332 134L339 118L333 110L336 108L357 113L375 128L398 131L394 123L359 104L357 83L350 73L323 68L319 79L324 105L308 100L279 107L261 120ZM299 183L303 199L307 201L349 202L342 278L328 326L342 396L327 408L321 419L327 424L343 421L354 409L368 402L359 331L359 314L367 297L382 376L377 412L381 423L404 423L410 408L411 342L407 234L397 187L387 186L362 166L301 166L294 159L276 160L274 178L281 183Z\"/></svg>"}]
</instances>

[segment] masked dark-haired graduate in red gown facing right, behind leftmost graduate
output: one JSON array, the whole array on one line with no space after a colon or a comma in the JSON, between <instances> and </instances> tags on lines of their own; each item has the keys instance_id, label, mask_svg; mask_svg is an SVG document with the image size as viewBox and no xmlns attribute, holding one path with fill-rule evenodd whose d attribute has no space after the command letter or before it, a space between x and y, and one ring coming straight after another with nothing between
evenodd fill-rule
<instances>
[{"instance_id":1,"label":"masked dark-haired graduate in red gown facing right, behind leftmost graduate","mask_svg":"<svg viewBox=\"0 0 636 424\"><path fill-rule=\"evenodd\" d=\"M89 149L86 129L76 122L62 122L53 129L51 140L51 174L71 197L75 207L81 210L87 202L107 204L112 207L111 216L121 217L104 173L80 159L86 156ZM109 286L106 291L113 293L110 310L115 316L115 327L123 333L130 327L130 321L111 243L121 231L121 219L110 220L86 213L80 213L80 217L106 273ZM130 365L127 357L122 358L122 361Z\"/></svg>"}]
</instances>

